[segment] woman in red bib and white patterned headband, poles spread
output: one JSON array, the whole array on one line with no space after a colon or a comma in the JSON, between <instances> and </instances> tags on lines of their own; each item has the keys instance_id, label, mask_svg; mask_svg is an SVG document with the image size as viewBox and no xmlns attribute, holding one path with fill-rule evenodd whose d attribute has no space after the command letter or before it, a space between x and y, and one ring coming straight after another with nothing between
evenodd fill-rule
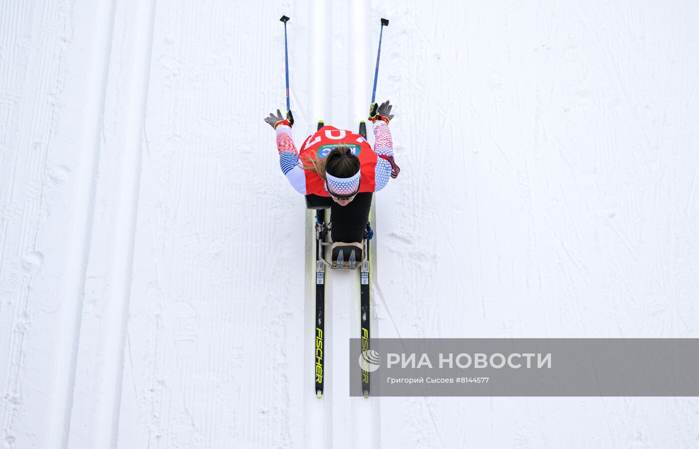
<instances>
[{"instance_id":1,"label":"woman in red bib and white patterned headband, poles spread","mask_svg":"<svg viewBox=\"0 0 699 449\"><path fill-rule=\"evenodd\" d=\"M304 195L331 197L333 242L361 242L366 232L373 192L398 176L389 122L393 105L371 103L369 120L374 128L374 148L357 133L323 126L308 136L296 151L291 139L294 117L271 113L265 119L277 131L279 164L291 186ZM299 163L300 162L300 163Z\"/></svg>"}]
</instances>

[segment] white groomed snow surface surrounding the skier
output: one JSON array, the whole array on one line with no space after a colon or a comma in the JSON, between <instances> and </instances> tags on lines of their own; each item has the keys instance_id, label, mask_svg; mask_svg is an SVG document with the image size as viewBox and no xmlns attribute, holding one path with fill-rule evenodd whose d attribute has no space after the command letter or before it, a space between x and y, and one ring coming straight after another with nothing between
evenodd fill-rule
<instances>
[{"instance_id":1,"label":"white groomed snow surface surrounding the skier","mask_svg":"<svg viewBox=\"0 0 699 449\"><path fill-rule=\"evenodd\" d=\"M373 337L699 337L697 1L0 5L2 448L689 448L688 397L348 396L263 122L390 99Z\"/></svg>"}]
</instances>

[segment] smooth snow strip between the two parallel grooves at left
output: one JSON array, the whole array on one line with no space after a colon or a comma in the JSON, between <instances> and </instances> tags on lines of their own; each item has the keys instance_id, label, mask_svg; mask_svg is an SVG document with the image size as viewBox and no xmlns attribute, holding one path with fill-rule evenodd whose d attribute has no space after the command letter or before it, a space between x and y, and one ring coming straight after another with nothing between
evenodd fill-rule
<instances>
[{"instance_id":1,"label":"smooth snow strip between the two parallel grooves at left","mask_svg":"<svg viewBox=\"0 0 699 449\"><path fill-rule=\"evenodd\" d=\"M117 145L122 145L117 150L120 158L120 163L117 163L117 177L115 179L107 171L106 176L98 179L96 187L100 209L106 203L106 198L109 198L110 193L117 198L117 207L113 216L98 218L97 223L99 223L100 229L97 231L96 237L105 238L103 244L94 246L89 251L87 273L90 274L88 283L90 306L82 311L82 322L85 326L81 328L81 334L97 332L101 350L97 351L89 337L79 340L76 365L80 368L80 375L76 382L80 387L73 395L73 402L79 401L81 407L71 411L71 427L89 430L87 433L71 432L70 446L115 447L117 444L154 1L141 4L145 10L138 10L140 14L136 14L135 21L139 24L140 21L144 21L145 24L141 24L138 32L129 36L126 36L126 33L129 27L128 17L132 12L128 10L128 7L123 8L123 5L124 3L113 3L114 18L111 36L114 36L115 40L110 38L112 50L108 52L108 58L110 66L115 68L115 71L106 80L107 99L103 103L101 118L103 119L105 115L111 118L115 114L118 117L118 109L122 107L129 110L129 115L123 121L117 119L112 122L117 128L123 127L114 130L116 135L123 138L123 141L116 141ZM124 46L131 43L129 39L132 36L134 36L133 45L136 48L134 58L130 61L133 65L125 65L120 57L124 51ZM113 51L115 45L119 46L119 50ZM122 79L118 78L120 75L123 77ZM127 92L123 99L119 97L122 89ZM124 101L126 104L115 106L114 101L117 103ZM108 140L112 131L112 128L103 128L102 135L106 136L107 139L98 146L105 161L113 159L115 154L113 141ZM103 163L100 161L102 167ZM114 184L110 185L110 182ZM111 220L105 222L109 218ZM115 227L115 230L108 236L103 235L104 229L110 229L112 226ZM101 265L102 257L108 260L106 266ZM99 284L103 281L106 281L106 284L100 288ZM103 293L100 295L101 298L106 298L108 302L99 302L98 297L93 296L93 292L98 295ZM93 311L97 313L93 314ZM93 373L95 377L92 380L85 379L85 372ZM92 389L96 390L96 393L90 392ZM84 404L82 400L86 395L95 394L96 398L92 408L88 411L82 406ZM83 422L84 420L92 424L88 425L87 422Z\"/></svg>"}]
</instances>

